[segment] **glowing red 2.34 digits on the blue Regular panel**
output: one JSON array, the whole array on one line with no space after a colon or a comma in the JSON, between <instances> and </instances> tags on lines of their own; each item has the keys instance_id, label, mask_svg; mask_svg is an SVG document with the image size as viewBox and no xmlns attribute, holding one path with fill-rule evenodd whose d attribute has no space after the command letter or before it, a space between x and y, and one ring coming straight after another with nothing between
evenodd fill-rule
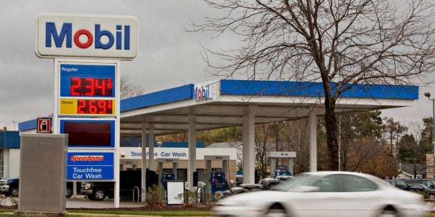
<instances>
[{"instance_id":1,"label":"glowing red 2.34 digits on the blue Regular panel","mask_svg":"<svg viewBox=\"0 0 435 217\"><path fill-rule=\"evenodd\" d=\"M112 96L112 78L71 77L71 95Z\"/></svg>"}]
</instances>

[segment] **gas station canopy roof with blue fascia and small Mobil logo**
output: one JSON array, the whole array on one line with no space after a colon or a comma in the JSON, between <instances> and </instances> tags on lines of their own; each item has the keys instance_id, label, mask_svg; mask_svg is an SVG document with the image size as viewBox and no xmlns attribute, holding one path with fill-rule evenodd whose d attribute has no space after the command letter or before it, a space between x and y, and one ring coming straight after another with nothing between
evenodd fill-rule
<instances>
[{"instance_id":1,"label":"gas station canopy roof with blue fascia and small Mobil logo","mask_svg":"<svg viewBox=\"0 0 435 217\"><path fill-rule=\"evenodd\" d=\"M332 84L334 86L334 84ZM197 131L242 126L248 107L255 124L323 115L323 84L317 82L245 81L223 79L188 84L121 100L121 137L140 137L142 123L155 135L185 133L188 115ZM341 94L336 113L412 106L418 86L356 84Z\"/></svg>"}]
</instances>

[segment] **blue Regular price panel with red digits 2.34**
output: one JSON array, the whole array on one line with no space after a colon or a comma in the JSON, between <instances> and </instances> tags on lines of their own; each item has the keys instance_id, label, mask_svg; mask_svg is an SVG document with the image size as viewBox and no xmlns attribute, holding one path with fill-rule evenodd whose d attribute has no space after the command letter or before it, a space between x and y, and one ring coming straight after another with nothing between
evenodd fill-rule
<instances>
[{"instance_id":1,"label":"blue Regular price panel with red digits 2.34","mask_svg":"<svg viewBox=\"0 0 435 217\"><path fill-rule=\"evenodd\" d=\"M115 97L112 64L60 64L60 97Z\"/></svg>"}]
</instances>

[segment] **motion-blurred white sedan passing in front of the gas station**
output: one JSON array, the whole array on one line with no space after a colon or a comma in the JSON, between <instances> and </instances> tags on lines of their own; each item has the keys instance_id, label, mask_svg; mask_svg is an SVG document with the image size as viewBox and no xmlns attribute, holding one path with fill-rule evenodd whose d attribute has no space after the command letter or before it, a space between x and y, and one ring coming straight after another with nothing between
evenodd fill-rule
<instances>
[{"instance_id":1,"label":"motion-blurred white sedan passing in front of the gas station","mask_svg":"<svg viewBox=\"0 0 435 217\"><path fill-rule=\"evenodd\" d=\"M270 191L217 201L217 216L425 216L423 196L364 173L301 173Z\"/></svg>"}]
</instances>

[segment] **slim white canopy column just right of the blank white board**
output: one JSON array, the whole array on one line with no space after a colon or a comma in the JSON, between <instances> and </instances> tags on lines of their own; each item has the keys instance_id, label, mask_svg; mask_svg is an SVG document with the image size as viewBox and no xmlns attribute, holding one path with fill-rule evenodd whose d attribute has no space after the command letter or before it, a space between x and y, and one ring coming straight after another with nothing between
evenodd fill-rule
<instances>
[{"instance_id":1,"label":"slim white canopy column just right of the blank white board","mask_svg":"<svg viewBox=\"0 0 435 217\"><path fill-rule=\"evenodd\" d=\"M188 131L188 146L189 146L189 168L188 182L189 189L193 189L193 172L196 171L196 115L188 115L189 131Z\"/></svg>"}]
</instances>

